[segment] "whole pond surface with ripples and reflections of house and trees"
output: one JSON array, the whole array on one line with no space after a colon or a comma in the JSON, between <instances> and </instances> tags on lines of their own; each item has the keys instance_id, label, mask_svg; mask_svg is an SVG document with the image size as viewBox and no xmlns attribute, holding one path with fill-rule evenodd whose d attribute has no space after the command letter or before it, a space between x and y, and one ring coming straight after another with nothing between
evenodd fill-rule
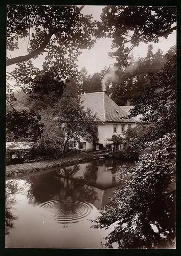
<instances>
[{"instance_id":1,"label":"whole pond surface with ripples and reflections of house and trees","mask_svg":"<svg viewBox=\"0 0 181 256\"><path fill-rule=\"evenodd\" d=\"M90 220L121 185L123 164L132 165L101 159L8 179L6 248L104 248L111 227L93 229Z\"/></svg>"}]
</instances>

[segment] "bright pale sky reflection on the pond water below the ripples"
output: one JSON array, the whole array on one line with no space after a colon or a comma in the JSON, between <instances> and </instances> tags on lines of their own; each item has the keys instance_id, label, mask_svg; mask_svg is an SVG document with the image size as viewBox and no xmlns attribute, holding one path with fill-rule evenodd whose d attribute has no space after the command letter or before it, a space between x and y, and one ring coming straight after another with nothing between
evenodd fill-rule
<instances>
[{"instance_id":1,"label":"bright pale sky reflection on the pond water below the ripples","mask_svg":"<svg viewBox=\"0 0 181 256\"><path fill-rule=\"evenodd\" d=\"M6 247L102 248L105 231L90 228L92 223L87 220L99 215L94 205L89 204L88 215L71 222L56 220L54 210L33 206L24 195L18 194L16 199L14 212L18 219L6 239Z\"/></svg>"}]
</instances>

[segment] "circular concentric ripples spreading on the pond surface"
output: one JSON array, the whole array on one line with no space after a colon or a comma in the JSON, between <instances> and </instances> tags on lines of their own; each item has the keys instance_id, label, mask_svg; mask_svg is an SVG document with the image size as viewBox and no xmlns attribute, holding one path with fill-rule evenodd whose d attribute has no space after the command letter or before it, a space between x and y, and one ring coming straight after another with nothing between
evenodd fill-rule
<instances>
[{"instance_id":1,"label":"circular concentric ripples spreading on the pond surface","mask_svg":"<svg viewBox=\"0 0 181 256\"><path fill-rule=\"evenodd\" d=\"M93 209L88 203L79 201L52 200L40 205L47 210L51 219L62 223L77 222Z\"/></svg>"}]
</instances>

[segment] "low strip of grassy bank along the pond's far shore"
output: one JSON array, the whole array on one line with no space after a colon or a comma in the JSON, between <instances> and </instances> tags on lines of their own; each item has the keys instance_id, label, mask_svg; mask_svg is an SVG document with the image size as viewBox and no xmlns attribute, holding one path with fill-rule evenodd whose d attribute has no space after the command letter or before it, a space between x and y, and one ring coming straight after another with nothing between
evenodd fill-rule
<instances>
[{"instance_id":1,"label":"low strip of grassy bank along the pond's far shore","mask_svg":"<svg viewBox=\"0 0 181 256\"><path fill-rule=\"evenodd\" d=\"M20 174L28 174L33 172L39 172L42 170L51 169L54 167L74 165L99 159L97 155L79 155L78 157L65 157L58 160L47 160L32 163L13 164L6 166L6 176L17 176Z\"/></svg>"}]
</instances>

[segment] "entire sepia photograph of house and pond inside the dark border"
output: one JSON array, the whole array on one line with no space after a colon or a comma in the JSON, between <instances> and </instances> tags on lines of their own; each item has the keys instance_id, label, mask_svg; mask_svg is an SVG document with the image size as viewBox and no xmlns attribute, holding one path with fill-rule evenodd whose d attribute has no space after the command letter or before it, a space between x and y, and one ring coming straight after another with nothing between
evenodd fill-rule
<instances>
[{"instance_id":1,"label":"entire sepia photograph of house and pond inside the dark border","mask_svg":"<svg viewBox=\"0 0 181 256\"><path fill-rule=\"evenodd\" d=\"M7 5L6 248L176 249L176 21Z\"/></svg>"}]
</instances>

